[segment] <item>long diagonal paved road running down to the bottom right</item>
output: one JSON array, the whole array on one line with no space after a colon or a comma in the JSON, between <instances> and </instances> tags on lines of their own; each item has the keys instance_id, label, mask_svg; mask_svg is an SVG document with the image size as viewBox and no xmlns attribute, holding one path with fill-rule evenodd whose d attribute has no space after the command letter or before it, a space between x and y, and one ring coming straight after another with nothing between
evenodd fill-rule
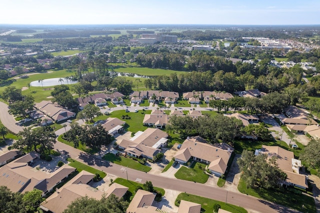
<instances>
[{"instance_id":1,"label":"long diagonal paved road running down to the bottom right","mask_svg":"<svg viewBox=\"0 0 320 213\"><path fill-rule=\"evenodd\" d=\"M92 167L122 178L126 178L126 172L123 169L121 170L121 168L123 167L121 165L101 160L96 156L81 152L76 148L58 141L55 143L54 148L66 150L69 152L69 155L72 158L86 163ZM139 181L141 183L144 183L146 180L148 180L152 181L154 186L169 188L177 191L184 191L190 194L208 197L220 201L226 201L228 203L242 206L244 208L252 209L258 212L296 212L294 210L258 199L256 197L241 194L238 192L227 191L222 188L215 188L191 181L158 176L127 167L126 170L128 179L132 181Z\"/></svg>"}]
</instances>

